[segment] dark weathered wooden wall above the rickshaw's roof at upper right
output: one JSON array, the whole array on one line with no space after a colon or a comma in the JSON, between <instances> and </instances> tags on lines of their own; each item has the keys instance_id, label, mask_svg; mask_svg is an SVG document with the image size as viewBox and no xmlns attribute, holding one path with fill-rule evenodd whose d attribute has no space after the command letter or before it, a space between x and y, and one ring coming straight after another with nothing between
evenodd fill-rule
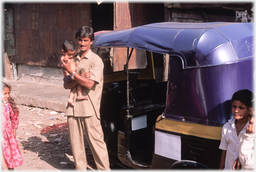
<instances>
[{"instance_id":1,"label":"dark weathered wooden wall above the rickshaw's roof at upper right","mask_svg":"<svg viewBox=\"0 0 256 172\"><path fill-rule=\"evenodd\" d=\"M252 3L165 3L165 22L243 22L237 12L252 21Z\"/></svg>"}]
</instances>

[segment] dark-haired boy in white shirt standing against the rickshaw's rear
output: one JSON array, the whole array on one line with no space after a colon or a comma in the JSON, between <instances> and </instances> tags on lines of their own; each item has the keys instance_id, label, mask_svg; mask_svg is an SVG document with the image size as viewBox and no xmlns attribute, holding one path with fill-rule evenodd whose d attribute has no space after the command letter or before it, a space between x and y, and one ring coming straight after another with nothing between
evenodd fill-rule
<instances>
[{"instance_id":1,"label":"dark-haired boy in white shirt standing against the rickshaw's rear","mask_svg":"<svg viewBox=\"0 0 256 172\"><path fill-rule=\"evenodd\" d=\"M224 124L219 148L222 149L219 169L233 170L238 161L238 135L245 133L248 122L248 108L251 107L252 92L245 89L236 91L232 96L232 113L234 118Z\"/></svg>"}]
</instances>

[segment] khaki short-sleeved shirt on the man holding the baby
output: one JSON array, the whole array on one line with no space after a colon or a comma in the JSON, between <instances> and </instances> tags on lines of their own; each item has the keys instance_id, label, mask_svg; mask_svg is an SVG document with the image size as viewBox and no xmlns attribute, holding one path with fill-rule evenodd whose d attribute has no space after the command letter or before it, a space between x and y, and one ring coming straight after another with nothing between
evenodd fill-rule
<instances>
[{"instance_id":1,"label":"khaki short-sleeved shirt on the man holding the baby","mask_svg":"<svg viewBox=\"0 0 256 172\"><path fill-rule=\"evenodd\" d=\"M74 58L76 64L76 73L81 75L84 72L90 72L90 79L95 82L91 90L83 87L82 95L88 96L89 100L78 100L77 90L74 94L74 107L70 104L66 107L65 116L93 116L96 114L100 119L100 102L103 87L103 62L102 59L91 50L81 58L81 53Z\"/></svg>"}]
</instances>

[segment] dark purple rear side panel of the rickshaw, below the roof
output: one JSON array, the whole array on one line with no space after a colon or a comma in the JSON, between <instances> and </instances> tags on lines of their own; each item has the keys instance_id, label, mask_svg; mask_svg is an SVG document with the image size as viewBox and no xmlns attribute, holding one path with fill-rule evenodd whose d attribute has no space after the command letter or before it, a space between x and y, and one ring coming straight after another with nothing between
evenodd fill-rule
<instances>
[{"instance_id":1,"label":"dark purple rear side panel of the rickshaw, below the roof","mask_svg":"<svg viewBox=\"0 0 256 172\"><path fill-rule=\"evenodd\" d=\"M172 57L167 87L166 118L222 126L232 117L234 92L252 90L252 58L182 69L180 58Z\"/></svg>"}]
</instances>

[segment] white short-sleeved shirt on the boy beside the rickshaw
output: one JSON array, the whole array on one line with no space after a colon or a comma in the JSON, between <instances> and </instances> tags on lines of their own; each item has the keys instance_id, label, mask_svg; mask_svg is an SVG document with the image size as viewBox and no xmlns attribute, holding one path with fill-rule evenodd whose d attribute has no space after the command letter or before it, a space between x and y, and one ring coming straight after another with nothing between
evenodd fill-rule
<instances>
[{"instance_id":1,"label":"white short-sleeved shirt on the boy beside the rickshaw","mask_svg":"<svg viewBox=\"0 0 256 172\"><path fill-rule=\"evenodd\" d=\"M240 131L241 133L246 132L246 126ZM239 154L239 141L235 131L235 118L230 119L222 128L222 138L220 141L219 149L226 150L226 160L224 170L233 170L232 166Z\"/></svg>"}]
</instances>

